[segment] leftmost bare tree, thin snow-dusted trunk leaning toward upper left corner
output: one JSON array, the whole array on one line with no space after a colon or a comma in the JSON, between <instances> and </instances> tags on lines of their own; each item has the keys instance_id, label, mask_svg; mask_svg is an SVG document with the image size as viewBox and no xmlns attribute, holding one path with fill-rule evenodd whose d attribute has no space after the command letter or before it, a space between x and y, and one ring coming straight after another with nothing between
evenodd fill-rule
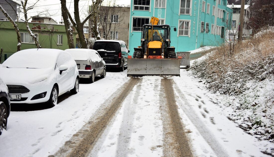
<instances>
[{"instance_id":1,"label":"leftmost bare tree, thin snow-dusted trunk leaning toward upper left corner","mask_svg":"<svg viewBox=\"0 0 274 157\"><path fill-rule=\"evenodd\" d=\"M7 2L7 0L6 0L6 2ZM7 2L7 4L9 4L12 7L12 9L14 10L14 6L12 6L12 4L10 4L8 2ZM6 16L6 18L8 19L8 21L10 21L10 23L12 23L12 26L15 29L15 32L16 32L16 35L17 35L17 51L20 51L21 50L21 43L22 43L22 41L21 41L20 30L18 28L18 18L19 18L18 14L16 14L16 16L17 16L17 24L16 24L14 22L14 20L10 17L10 15L8 15L8 13L5 11L5 9L1 6L1 4L0 4L0 10ZM17 10L14 10L14 12L17 13Z\"/></svg>"}]
</instances>

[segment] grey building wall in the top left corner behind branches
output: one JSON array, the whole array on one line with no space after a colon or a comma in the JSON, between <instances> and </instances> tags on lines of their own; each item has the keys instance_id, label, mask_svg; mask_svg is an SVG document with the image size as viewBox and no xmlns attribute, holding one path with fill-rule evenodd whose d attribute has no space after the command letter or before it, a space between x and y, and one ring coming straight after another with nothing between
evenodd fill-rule
<instances>
[{"instance_id":1,"label":"grey building wall in the top left corner behind branches","mask_svg":"<svg viewBox=\"0 0 274 157\"><path fill-rule=\"evenodd\" d=\"M5 11L8 13L8 15L10 15L10 17L13 19L13 21L15 21L17 19L17 12L15 12L14 10L17 10L17 3L7 0L9 4L7 4L7 2L5 0L0 0L0 4L1 6L5 9ZM11 6L12 5L12 6ZM6 16L0 12L0 19L7 19Z\"/></svg>"}]
</instances>

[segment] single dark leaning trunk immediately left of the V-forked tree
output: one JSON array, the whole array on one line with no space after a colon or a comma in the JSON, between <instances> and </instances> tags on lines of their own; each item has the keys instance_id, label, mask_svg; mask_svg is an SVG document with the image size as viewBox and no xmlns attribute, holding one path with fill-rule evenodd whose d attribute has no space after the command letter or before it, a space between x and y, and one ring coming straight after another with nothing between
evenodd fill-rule
<instances>
[{"instance_id":1,"label":"single dark leaning trunk immediately left of the V-forked tree","mask_svg":"<svg viewBox=\"0 0 274 157\"><path fill-rule=\"evenodd\" d=\"M75 48L74 46L74 39L73 39L73 29L71 28L71 22L68 19L68 12L66 9L66 0L60 0L61 1L61 11L62 11L62 17L64 19L65 29L67 33L68 38L68 47L69 48Z\"/></svg>"}]
</instances>

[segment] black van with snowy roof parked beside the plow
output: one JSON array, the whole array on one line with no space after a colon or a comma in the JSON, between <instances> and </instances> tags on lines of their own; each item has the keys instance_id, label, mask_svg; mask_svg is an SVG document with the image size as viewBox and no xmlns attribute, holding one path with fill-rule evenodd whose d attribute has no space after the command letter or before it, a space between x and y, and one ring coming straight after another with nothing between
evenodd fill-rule
<instances>
[{"instance_id":1,"label":"black van with snowy roof parked beside the plow","mask_svg":"<svg viewBox=\"0 0 274 157\"><path fill-rule=\"evenodd\" d=\"M124 41L97 40L94 42L93 50L96 50L104 59L106 67L119 68L120 71L124 71L127 67L129 49Z\"/></svg>"}]
</instances>

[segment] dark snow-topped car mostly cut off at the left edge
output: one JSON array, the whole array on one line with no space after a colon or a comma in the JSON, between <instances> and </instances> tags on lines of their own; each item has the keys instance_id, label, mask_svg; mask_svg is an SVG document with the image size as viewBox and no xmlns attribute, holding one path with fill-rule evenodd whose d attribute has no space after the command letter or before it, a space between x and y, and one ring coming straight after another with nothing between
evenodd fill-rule
<instances>
[{"instance_id":1,"label":"dark snow-topped car mostly cut off at the left edge","mask_svg":"<svg viewBox=\"0 0 274 157\"><path fill-rule=\"evenodd\" d=\"M8 116L10 115L10 98L8 87L0 78L0 135L1 130L6 129Z\"/></svg>"}]
</instances>

